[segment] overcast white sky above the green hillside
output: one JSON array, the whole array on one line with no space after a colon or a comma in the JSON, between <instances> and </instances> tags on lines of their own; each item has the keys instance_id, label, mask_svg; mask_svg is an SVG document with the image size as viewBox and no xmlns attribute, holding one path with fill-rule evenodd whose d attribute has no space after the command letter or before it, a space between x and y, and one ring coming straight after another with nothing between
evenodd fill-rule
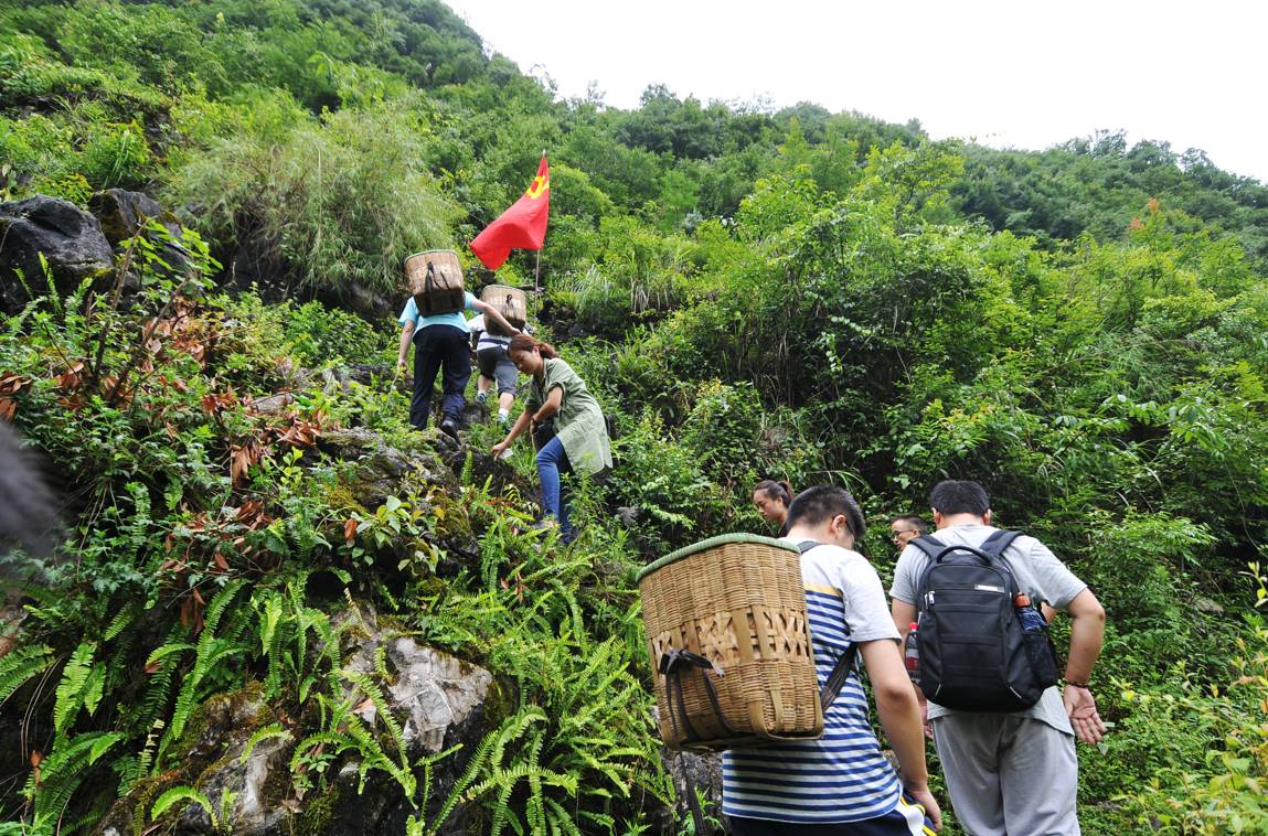
<instances>
[{"instance_id":1,"label":"overcast white sky above the green hillside","mask_svg":"<svg viewBox=\"0 0 1268 836\"><path fill-rule=\"evenodd\" d=\"M1260 0L446 0L488 48L638 106L813 101L935 138L1045 148L1106 128L1268 182ZM535 68L535 65L540 67Z\"/></svg>"}]
</instances>

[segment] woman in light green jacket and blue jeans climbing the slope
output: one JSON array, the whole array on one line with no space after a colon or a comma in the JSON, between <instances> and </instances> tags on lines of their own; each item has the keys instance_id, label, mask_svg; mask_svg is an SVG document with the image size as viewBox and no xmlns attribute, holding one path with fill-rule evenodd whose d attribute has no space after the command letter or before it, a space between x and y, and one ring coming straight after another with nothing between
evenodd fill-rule
<instances>
[{"instance_id":1,"label":"woman in light green jacket and blue jeans climbing the slope","mask_svg":"<svg viewBox=\"0 0 1268 836\"><path fill-rule=\"evenodd\" d=\"M501 456L530 426L536 433L544 422L554 419L554 438L538 450L541 507L545 519L558 522L564 540L571 542L576 531L568 521L568 497L560 488L559 474L596 474L612 466L604 410L586 383L549 343L521 333L511 339L507 355L529 376L529 394L524 412L492 452Z\"/></svg>"}]
</instances>

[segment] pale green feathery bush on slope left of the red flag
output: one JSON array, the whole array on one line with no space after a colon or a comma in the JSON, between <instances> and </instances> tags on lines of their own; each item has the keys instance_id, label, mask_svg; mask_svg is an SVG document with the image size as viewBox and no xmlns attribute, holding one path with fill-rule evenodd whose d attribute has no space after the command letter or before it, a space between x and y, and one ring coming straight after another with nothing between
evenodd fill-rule
<instances>
[{"instance_id":1,"label":"pale green feathery bush on slope left of the red flag","mask_svg":"<svg viewBox=\"0 0 1268 836\"><path fill-rule=\"evenodd\" d=\"M190 155L167 195L216 195L194 219L213 241L255 236L287 286L380 294L396 291L406 256L450 244L456 212L424 166L434 134L425 106L404 99L321 120L293 114L284 98L255 106L288 114L283 136L240 125Z\"/></svg>"}]
</instances>

